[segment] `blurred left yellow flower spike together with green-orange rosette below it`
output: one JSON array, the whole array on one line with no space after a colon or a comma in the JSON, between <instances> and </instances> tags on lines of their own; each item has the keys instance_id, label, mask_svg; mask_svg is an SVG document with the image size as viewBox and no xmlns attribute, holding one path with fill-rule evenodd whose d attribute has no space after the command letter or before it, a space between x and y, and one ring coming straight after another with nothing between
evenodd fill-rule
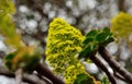
<instances>
[{"instance_id":1,"label":"blurred left yellow flower spike together with green-orange rosette below it","mask_svg":"<svg viewBox=\"0 0 132 84\"><path fill-rule=\"evenodd\" d=\"M16 50L4 58L8 69L15 71L22 68L31 72L38 63L40 55L34 47L26 47L21 43L21 36L15 32L15 24L12 14L15 13L14 4L11 0L0 0L0 34L6 37L6 43Z\"/></svg>"}]
</instances>

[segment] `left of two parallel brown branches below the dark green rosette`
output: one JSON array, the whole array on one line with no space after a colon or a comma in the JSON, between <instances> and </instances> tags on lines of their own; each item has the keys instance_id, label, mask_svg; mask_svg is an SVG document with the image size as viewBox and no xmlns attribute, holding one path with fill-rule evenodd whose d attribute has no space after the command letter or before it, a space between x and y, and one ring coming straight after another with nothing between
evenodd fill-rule
<instances>
[{"instance_id":1,"label":"left of two parallel brown branches below the dark green rosette","mask_svg":"<svg viewBox=\"0 0 132 84\"><path fill-rule=\"evenodd\" d=\"M110 82L111 82L112 84L117 84L117 83L116 83L116 80L114 80L114 76L108 71L107 67L99 60L98 57L96 57L96 56L90 56L89 58L94 61L94 63L95 63L98 68L100 68L102 71L106 72L108 79L110 80Z\"/></svg>"}]
</instances>

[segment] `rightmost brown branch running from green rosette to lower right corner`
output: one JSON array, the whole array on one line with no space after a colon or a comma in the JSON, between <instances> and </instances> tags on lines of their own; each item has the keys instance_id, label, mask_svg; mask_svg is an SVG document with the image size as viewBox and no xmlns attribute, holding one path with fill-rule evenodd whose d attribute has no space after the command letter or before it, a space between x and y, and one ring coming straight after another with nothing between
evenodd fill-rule
<instances>
[{"instance_id":1,"label":"rightmost brown branch running from green rosette to lower right corner","mask_svg":"<svg viewBox=\"0 0 132 84\"><path fill-rule=\"evenodd\" d=\"M117 71L120 75L122 75L128 83L132 83L132 74L127 71L124 68L120 67L120 64L111 58L110 53L107 51L105 47L99 48L99 53L101 57L109 63L109 65Z\"/></svg>"}]
</instances>

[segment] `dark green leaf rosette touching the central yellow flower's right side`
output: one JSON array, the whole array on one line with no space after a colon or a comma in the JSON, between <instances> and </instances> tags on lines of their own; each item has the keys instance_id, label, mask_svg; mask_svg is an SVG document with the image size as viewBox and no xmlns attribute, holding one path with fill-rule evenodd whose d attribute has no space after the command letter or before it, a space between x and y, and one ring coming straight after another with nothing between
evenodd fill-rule
<instances>
[{"instance_id":1,"label":"dark green leaf rosette touching the central yellow flower's right side","mask_svg":"<svg viewBox=\"0 0 132 84\"><path fill-rule=\"evenodd\" d=\"M113 41L113 37L109 28L92 29L86 35L78 58L87 59L88 56L94 56L100 46L107 46L111 41Z\"/></svg>"}]
</instances>

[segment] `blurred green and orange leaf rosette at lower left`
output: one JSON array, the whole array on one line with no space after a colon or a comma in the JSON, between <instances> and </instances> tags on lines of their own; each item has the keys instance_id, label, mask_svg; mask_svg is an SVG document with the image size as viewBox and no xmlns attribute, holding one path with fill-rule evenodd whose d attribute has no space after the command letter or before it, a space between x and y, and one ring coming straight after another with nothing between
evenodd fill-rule
<instances>
[{"instance_id":1,"label":"blurred green and orange leaf rosette at lower left","mask_svg":"<svg viewBox=\"0 0 132 84\"><path fill-rule=\"evenodd\" d=\"M21 50L9 53L4 58L4 63L8 69L15 71L23 69L23 71L32 72L40 60L38 51L33 46L24 47Z\"/></svg>"}]
</instances>

